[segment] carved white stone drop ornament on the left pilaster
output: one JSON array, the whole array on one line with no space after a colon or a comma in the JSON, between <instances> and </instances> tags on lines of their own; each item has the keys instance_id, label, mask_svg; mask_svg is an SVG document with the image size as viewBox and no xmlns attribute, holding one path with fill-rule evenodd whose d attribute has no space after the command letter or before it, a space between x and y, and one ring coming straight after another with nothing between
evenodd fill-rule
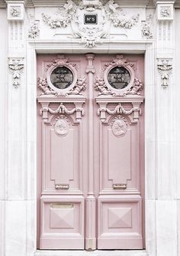
<instances>
[{"instance_id":1,"label":"carved white stone drop ornament on the left pilaster","mask_svg":"<svg viewBox=\"0 0 180 256\"><path fill-rule=\"evenodd\" d=\"M12 84L15 88L18 88L21 81L21 73L24 69L23 58L21 59L10 59L9 60L9 71L12 74Z\"/></svg>"}]
</instances>

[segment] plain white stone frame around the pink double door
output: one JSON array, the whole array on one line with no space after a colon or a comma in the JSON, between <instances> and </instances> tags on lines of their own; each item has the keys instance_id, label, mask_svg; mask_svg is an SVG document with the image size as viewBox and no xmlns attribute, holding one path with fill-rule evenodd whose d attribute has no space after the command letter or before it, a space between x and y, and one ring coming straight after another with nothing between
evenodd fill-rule
<instances>
[{"instance_id":1,"label":"plain white stone frame around the pink double door","mask_svg":"<svg viewBox=\"0 0 180 256\"><path fill-rule=\"evenodd\" d=\"M27 41L27 191L29 203L29 224L27 238L33 239L32 254L37 251L37 54L144 54L145 84L145 241L146 252L153 252L156 234L156 88L154 69L154 41L108 41L95 49L83 48L79 41ZM150 157L148 157L150 156ZM154 233L152 236L152 232ZM142 250L140 250L142 251ZM42 254L44 252L42 251ZM60 255L60 254L59 254Z\"/></svg>"}]
</instances>

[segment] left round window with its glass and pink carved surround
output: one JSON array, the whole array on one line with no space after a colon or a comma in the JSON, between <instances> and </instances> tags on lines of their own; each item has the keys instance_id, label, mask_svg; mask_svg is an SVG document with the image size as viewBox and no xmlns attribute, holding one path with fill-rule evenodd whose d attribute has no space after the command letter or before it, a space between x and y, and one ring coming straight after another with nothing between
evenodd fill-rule
<instances>
[{"instance_id":1,"label":"left round window with its glass and pink carved surround","mask_svg":"<svg viewBox=\"0 0 180 256\"><path fill-rule=\"evenodd\" d=\"M68 95L82 95L86 88L86 78L78 77L74 63L59 55L56 60L47 64L45 76L39 77L37 85L43 92L40 95L67 97Z\"/></svg>"}]
</instances>

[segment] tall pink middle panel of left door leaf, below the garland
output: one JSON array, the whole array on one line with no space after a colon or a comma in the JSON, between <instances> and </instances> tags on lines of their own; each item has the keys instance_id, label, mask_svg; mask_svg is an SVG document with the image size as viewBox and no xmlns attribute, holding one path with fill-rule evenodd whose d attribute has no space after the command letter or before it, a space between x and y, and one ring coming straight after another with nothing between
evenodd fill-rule
<instances>
[{"instance_id":1,"label":"tall pink middle panel of left door leaf, below the garland","mask_svg":"<svg viewBox=\"0 0 180 256\"><path fill-rule=\"evenodd\" d=\"M56 120L63 122L63 125L68 130L65 131L67 134L61 136L56 132ZM55 123L55 126L43 123L42 127L43 192L56 193L56 186L60 184L69 185L69 191L71 189L80 191L79 141L81 139L79 139L79 136L81 134L79 134L79 126L73 125L71 120L63 115L62 117L56 115L51 123Z\"/></svg>"}]
</instances>

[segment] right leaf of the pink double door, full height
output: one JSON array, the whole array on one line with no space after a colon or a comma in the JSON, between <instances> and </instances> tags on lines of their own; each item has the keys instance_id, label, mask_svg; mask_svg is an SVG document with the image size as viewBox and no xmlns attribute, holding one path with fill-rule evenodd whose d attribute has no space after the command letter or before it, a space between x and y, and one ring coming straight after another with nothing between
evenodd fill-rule
<instances>
[{"instance_id":1,"label":"right leaf of the pink double door, full height","mask_svg":"<svg viewBox=\"0 0 180 256\"><path fill-rule=\"evenodd\" d=\"M127 58L95 62L99 249L143 248L143 56Z\"/></svg>"}]
</instances>

